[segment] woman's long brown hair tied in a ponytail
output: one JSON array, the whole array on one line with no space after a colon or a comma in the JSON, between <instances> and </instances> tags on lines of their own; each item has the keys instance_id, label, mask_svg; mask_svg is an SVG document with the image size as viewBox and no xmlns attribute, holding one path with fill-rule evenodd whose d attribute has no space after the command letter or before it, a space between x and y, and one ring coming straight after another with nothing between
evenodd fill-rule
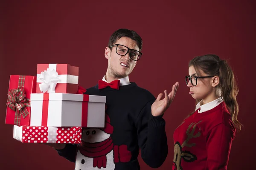
<instances>
[{"instance_id":1,"label":"woman's long brown hair tied in a ponytail","mask_svg":"<svg viewBox=\"0 0 256 170\"><path fill-rule=\"evenodd\" d=\"M207 54L193 58L189 62L189 67L190 66L195 68L198 76L200 76L199 70L201 70L207 75L219 77L219 84L216 90L221 92L221 96L232 116L232 121L236 129L240 131L242 124L237 119L239 105L236 99L239 90L233 71L227 64L227 61L221 60L217 55ZM196 104L198 104L198 102L200 102L200 99L196 99Z\"/></svg>"}]
</instances>

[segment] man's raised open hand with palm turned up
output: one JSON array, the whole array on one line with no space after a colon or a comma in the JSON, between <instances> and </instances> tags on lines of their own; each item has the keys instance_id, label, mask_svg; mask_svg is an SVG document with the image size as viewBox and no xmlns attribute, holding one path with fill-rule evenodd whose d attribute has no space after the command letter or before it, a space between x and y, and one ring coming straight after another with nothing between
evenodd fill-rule
<instances>
[{"instance_id":1,"label":"man's raised open hand with palm turned up","mask_svg":"<svg viewBox=\"0 0 256 170\"><path fill-rule=\"evenodd\" d=\"M176 82L175 85L172 86L172 91L167 95L167 90L164 91L165 98L161 100L163 94L160 93L157 96L156 101L151 106L151 113L153 116L162 115L171 105L172 100L175 97L177 88L179 87L179 82Z\"/></svg>"}]
</instances>

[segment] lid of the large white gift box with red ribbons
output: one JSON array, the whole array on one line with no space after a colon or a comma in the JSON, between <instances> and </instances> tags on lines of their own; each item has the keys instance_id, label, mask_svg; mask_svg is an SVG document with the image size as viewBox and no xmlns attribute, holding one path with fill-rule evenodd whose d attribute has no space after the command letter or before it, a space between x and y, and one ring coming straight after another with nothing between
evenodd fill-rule
<instances>
[{"instance_id":1,"label":"lid of the large white gift box with red ribbons","mask_svg":"<svg viewBox=\"0 0 256 170\"><path fill-rule=\"evenodd\" d=\"M106 102L106 96L96 96L88 94L66 94L66 93L50 93L39 94L34 93L30 96L31 101L35 100L65 100L65 101L79 101L79 102Z\"/></svg>"}]
</instances>

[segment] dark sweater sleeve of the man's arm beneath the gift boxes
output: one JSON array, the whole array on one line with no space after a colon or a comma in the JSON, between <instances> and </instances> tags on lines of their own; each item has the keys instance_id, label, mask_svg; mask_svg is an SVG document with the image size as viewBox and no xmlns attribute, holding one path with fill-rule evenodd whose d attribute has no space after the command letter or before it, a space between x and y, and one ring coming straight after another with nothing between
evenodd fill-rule
<instances>
[{"instance_id":1,"label":"dark sweater sleeve of the man's arm beneath the gift boxes","mask_svg":"<svg viewBox=\"0 0 256 170\"><path fill-rule=\"evenodd\" d=\"M63 156L65 159L71 161L71 162L76 162L76 148L77 144L66 144L64 149L58 150L58 154L60 156Z\"/></svg>"}]
</instances>

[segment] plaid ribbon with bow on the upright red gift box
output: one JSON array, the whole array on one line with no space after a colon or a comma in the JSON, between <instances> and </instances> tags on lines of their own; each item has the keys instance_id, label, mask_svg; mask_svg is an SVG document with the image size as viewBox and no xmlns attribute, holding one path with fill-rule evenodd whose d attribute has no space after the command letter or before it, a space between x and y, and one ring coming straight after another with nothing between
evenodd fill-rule
<instances>
[{"instance_id":1,"label":"plaid ribbon with bow on the upright red gift box","mask_svg":"<svg viewBox=\"0 0 256 170\"><path fill-rule=\"evenodd\" d=\"M19 77L18 88L10 89L6 105L15 111L14 124L20 125L20 116L25 119L29 115L26 107L30 107L30 100L26 99L24 90L25 76Z\"/></svg>"}]
</instances>

